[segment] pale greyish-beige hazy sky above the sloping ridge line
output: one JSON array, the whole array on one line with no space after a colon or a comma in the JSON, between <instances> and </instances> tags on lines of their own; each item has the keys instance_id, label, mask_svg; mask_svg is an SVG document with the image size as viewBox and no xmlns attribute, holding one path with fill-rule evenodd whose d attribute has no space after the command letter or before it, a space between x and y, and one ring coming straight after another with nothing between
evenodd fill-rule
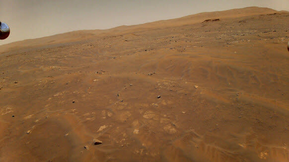
<instances>
[{"instance_id":1,"label":"pale greyish-beige hazy sky above the sloping ridge line","mask_svg":"<svg viewBox=\"0 0 289 162\"><path fill-rule=\"evenodd\" d=\"M11 30L0 45L247 6L289 10L289 0L0 0L0 21Z\"/></svg>"}]
</instances>

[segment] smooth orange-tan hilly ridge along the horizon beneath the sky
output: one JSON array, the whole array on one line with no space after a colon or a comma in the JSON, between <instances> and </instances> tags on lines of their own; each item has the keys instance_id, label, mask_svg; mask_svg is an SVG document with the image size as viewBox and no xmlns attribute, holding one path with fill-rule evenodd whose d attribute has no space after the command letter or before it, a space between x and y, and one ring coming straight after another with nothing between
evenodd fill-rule
<instances>
[{"instance_id":1,"label":"smooth orange-tan hilly ridge along the horizon beneath the sky","mask_svg":"<svg viewBox=\"0 0 289 162\"><path fill-rule=\"evenodd\" d=\"M181 18L170 19L170 20L160 20L156 22L149 22L139 25L131 26L119 26L107 30L81 30L81 31L72 31L63 34L57 34L54 36L48 36L44 38L24 40L15 43L10 43L0 46L0 51L5 52L8 49L12 48L25 48L25 47L35 47L43 46L50 44L59 44L59 43L68 43L75 42L80 40L89 39L93 36L105 36L111 34L124 34L131 31L142 31L150 28L167 28L173 26L182 26L188 24L201 23L206 19L212 18L238 18L244 16L260 15L277 12L271 8L261 8L261 7L246 7L241 9L230 9L226 11L215 11L215 12L203 12L194 15L184 16Z\"/></svg>"}]
</instances>

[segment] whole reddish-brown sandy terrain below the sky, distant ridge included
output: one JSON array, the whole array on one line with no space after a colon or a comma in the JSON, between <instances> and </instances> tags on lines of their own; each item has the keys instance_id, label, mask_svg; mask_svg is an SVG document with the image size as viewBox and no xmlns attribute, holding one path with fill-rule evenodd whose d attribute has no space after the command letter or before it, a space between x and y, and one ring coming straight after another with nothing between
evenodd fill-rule
<instances>
[{"instance_id":1,"label":"whole reddish-brown sandy terrain below the sky, distant ridge included","mask_svg":"<svg viewBox=\"0 0 289 162\"><path fill-rule=\"evenodd\" d=\"M250 7L0 46L0 162L289 162L288 20Z\"/></svg>"}]
</instances>

